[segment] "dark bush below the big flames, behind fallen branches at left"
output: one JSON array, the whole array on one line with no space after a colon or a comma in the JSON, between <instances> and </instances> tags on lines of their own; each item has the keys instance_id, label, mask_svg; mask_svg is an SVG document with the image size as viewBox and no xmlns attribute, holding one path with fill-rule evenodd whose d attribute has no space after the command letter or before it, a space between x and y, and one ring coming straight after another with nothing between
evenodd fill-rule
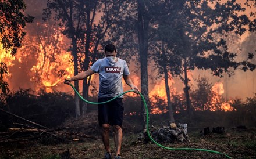
<instances>
[{"instance_id":1,"label":"dark bush below the big flames, behind fallen branches at left","mask_svg":"<svg viewBox=\"0 0 256 159\"><path fill-rule=\"evenodd\" d=\"M42 92L36 96L30 89L20 89L6 97L5 106L2 108L51 128L64 122L67 117L74 116L74 97L62 92ZM4 120L2 124L7 126L20 122L18 118L9 115L8 118L5 115L5 119L1 120Z\"/></svg>"}]
</instances>

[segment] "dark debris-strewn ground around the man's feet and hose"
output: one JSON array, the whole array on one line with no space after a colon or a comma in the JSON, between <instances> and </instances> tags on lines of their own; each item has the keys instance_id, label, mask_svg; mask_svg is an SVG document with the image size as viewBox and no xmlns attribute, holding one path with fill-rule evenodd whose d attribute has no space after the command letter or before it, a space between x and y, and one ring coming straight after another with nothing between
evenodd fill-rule
<instances>
[{"instance_id":1,"label":"dark debris-strewn ground around the man's feet and hose","mask_svg":"<svg viewBox=\"0 0 256 159\"><path fill-rule=\"evenodd\" d=\"M68 139L69 142L44 135L33 140L0 143L0 158L61 158L67 151L73 159L103 158L104 145L98 132L97 117L88 114L87 117L70 119L62 128L52 132ZM134 125L127 122L123 126L122 158L226 158L221 154L196 150L167 150L154 143L138 141L139 132L134 131ZM69 132L69 133L67 133ZM72 132L72 133L71 133ZM74 135L76 133L76 135ZM68 135L67 135L68 134ZM224 134L209 133L200 135L198 131L188 133L188 143L162 143L166 147L189 147L209 149L225 153L232 158L256 158L256 129L226 129ZM111 136L112 153L114 154L113 135Z\"/></svg>"}]
</instances>

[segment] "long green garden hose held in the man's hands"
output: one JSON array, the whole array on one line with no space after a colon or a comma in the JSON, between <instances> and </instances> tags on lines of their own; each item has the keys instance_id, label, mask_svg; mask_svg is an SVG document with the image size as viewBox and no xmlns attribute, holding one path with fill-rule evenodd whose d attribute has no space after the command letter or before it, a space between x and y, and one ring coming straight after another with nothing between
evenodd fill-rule
<instances>
[{"instance_id":1,"label":"long green garden hose held in the man's hands","mask_svg":"<svg viewBox=\"0 0 256 159\"><path fill-rule=\"evenodd\" d=\"M112 100L118 98L119 96L122 96L124 95L125 93L128 93L128 92L134 92L134 90L129 90L129 91L126 91L126 92L123 92L122 94L116 96L116 97L113 97L113 99L111 100L108 100L106 102L100 102L100 103L97 103L97 102L90 102L86 99L84 99L79 92L77 92L77 90L74 88L74 86L72 84L70 84L70 86L74 89L74 91L77 93L77 95L82 99L84 100L84 102L87 102L87 103L90 103L90 104L104 104L104 103L108 103L108 102L111 102ZM152 140L152 142L154 142L155 144L157 144L159 147L162 147L163 149L168 149L168 150L197 150L197 151L207 151L209 153L216 153L216 154L221 154L222 156L225 156L227 158L231 158L230 156L227 156L226 154L224 153L220 153L218 151L213 151L213 150L207 150L207 149L196 149L196 148L172 148L172 147L166 147L166 146L163 146L162 144L159 144L157 143L150 135L150 131L148 129L148 121L149 121L149 117L148 117L148 107L147 107L147 103L145 102L145 99L143 97L143 95L138 92L138 94L140 95L141 99L143 100L143 103L144 103L144 106L145 106L145 110L146 110L146 113L147 113L147 118L146 118L146 125L147 125L147 134L148 134L148 137Z\"/></svg>"}]
</instances>

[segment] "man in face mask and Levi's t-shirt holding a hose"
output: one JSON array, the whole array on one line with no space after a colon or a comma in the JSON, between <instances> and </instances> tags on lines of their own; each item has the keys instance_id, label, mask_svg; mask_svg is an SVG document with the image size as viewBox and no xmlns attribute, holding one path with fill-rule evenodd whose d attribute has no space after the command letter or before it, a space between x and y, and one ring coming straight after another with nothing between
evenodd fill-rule
<instances>
[{"instance_id":1,"label":"man in face mask and Levi's t-shirt holding a hose","mask_svg":"<svg viewBox=\"0 0 256 159\"><path fill-rule=\"evenodd\" d=\"M125 60L116 57L116 47L113 44L105 46L105 55L103 59L97 60L91 68L80 74L75 75L65 81L65 84L70 84L72 81L82 80L88 76L99 74L99 93L98 102L105 102L123 93L122 78L127 85L138 93L137 86L133 84L129 77L130 72ZM123 122L123 95L106 104L98 105L98 121L102 128L102 141L105 146L105 159L111 158L111 149L109 146L109 128L113 126L115 133L114 141L116 146L115 158L121 158L121 143L122 143L122 122Z\"/></svg>"}]
</instances>

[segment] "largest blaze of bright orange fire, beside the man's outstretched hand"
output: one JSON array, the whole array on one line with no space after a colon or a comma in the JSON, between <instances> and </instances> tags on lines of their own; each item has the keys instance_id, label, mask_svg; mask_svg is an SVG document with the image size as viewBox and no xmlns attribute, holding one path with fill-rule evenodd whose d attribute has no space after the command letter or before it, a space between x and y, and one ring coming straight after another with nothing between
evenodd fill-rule
<instances>
[{"instance_id":1,"label":"largest blaze of bright orange fire, beside the man's outstretched hand","mask_svg":"<svg viewBox=\"0 0 256 159\"><path fill-rule=\"evenodd\" d=\"M49 27L39 23L37 26ZM52 87L62 82L64 77L70 77L74 73L73 57L70 52L66 51L65 37L60 34L60 30L61 28L52 28L51 38L47 37L48 34L45 35L46 37L31 38L33 39L31 44L36 48L35 56L37 57L36 64L30 69L32 75L30 81L37 84L35 91L45 89L46 92L52 92ZM21 57L19 62L22 62L22 58L24 57Z\"/></svg>"}]
</instances>

